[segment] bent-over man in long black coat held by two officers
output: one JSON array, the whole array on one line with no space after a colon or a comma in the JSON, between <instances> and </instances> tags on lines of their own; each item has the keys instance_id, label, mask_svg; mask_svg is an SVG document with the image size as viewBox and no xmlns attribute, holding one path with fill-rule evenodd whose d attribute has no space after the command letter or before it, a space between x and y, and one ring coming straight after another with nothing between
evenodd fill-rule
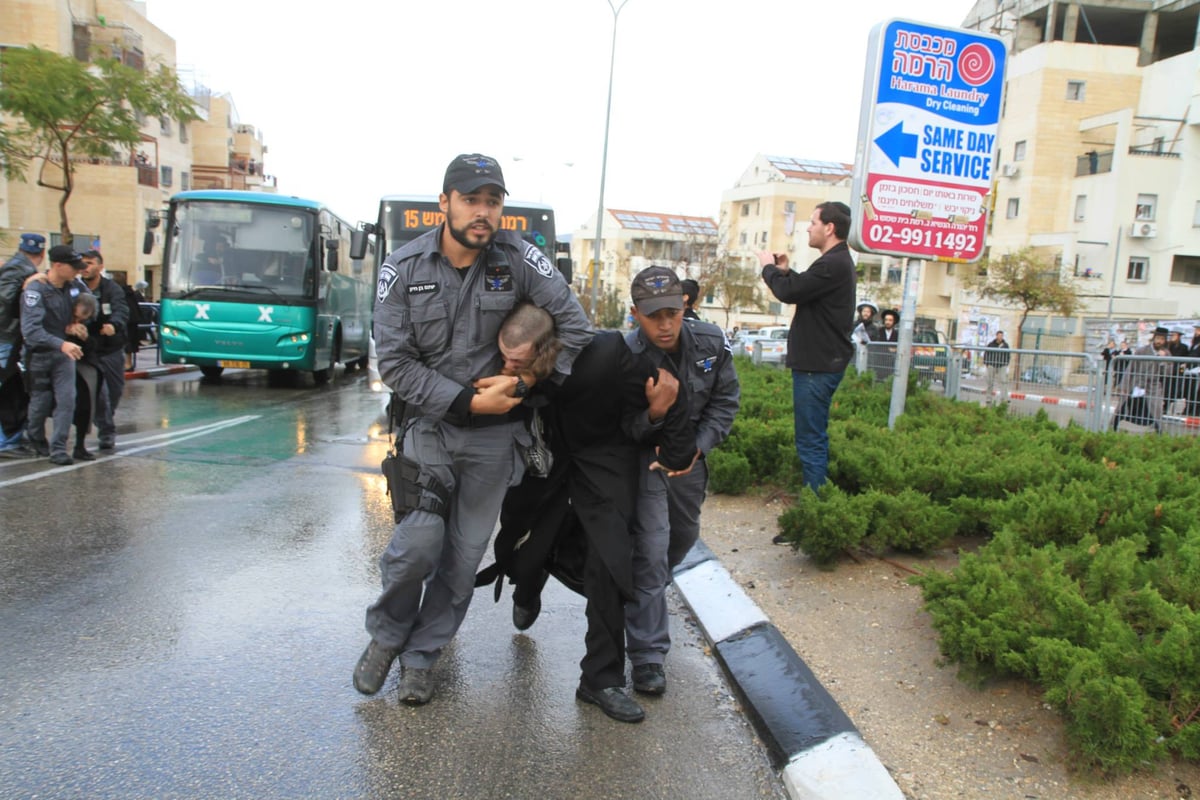
<instances>
[{"instance_id":1,"label":"bent-over man in long black coat held by two officers","mask_svg":"<svg viewBox=\"0 0 1200 800\"><path fill-rule=\"evenodd\" d=\"M522 350L506 343L506 325L500 329L505 367L526 372L521 356L536 359L539 345ZM500 582L509 576L516 584L512 618L520 630L536 619L547 573L587 597L576 697L614 720L640 722L644 712L625 690L623 607L634 594L630 524L638 486L638 443L630 431L646 415L656 429L658 463L667 469L689 464L696 452L695 428L686 401L678 402L686 390L670 373L636 359L624 337L612 331L595 335L560 386L536 385L550 392L529 402L541 403L553 467L547 477L527 475L509 489L496 564L479 573L476 585L496 581L499 599Z\"/></svg>"}]
</instances>

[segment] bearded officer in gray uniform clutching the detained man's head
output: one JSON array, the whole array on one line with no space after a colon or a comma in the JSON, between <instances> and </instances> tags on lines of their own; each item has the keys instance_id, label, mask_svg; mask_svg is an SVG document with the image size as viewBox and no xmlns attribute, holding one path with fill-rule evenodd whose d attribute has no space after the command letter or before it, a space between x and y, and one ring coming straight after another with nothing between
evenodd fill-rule
<instances>
[{"instance_id":1,"label":"bearded officer in gray uniform clutching the detained man's head","mask_svg":"<svg viewBox=\"0 0 1200 800\"><path fill-rule=\"evenodd\" d=\"M514 411L535 378L502 375L500 323L522 300L554 318L562 381L592 326L550 259L500 230L504 176L494 158L457 156L438 198L445 221L391 253L379 270L374 337L379 374L403 403L400 469L389 479L397 524L367 608L371 643L354 686L373 694L396 658L400 699L433 696L432 667L462 624L475 572L530 443ZM424 594L422 594L424 593Z\"/></svg>"}]
</instances>

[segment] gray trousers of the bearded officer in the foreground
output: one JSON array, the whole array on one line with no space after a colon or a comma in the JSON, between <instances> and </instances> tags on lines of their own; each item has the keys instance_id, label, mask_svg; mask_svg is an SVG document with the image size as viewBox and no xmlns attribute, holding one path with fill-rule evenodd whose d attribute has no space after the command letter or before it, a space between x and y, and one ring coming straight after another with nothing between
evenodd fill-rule
<instances>
[{"instance_id":1,"label":"gray trousers of the bearded officer in the foreground","mask_svg":"<svg viewBox=\"0 0 1200 800\"><path fill-rule=\"evenodd\" d=\"M401 664L432 667L462 625L500 503L524 475L515 446L522 435L529 444L522 422L460 428L422 417L409 429L404 452L450 491L450 512L443 521L409 511L379 557L383 593L367 608L366 627L400 650Z\"/></svg>"}]
</instances>

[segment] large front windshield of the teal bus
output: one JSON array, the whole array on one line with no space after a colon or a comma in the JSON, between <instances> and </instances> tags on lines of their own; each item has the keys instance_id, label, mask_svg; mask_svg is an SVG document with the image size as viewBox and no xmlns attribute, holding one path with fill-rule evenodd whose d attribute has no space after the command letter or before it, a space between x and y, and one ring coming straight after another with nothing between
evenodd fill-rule
<instances>
[{"instance_id":1,"label":"large front windshield of the teal bus","mask_svg":"<svg viewBox=\"0 0 1200 800\"><path fill-rule=\"evenodd\" d=\"M174 296L204 290L310 299L317 216L308 209L179 201L163 279Z\"/></svg>"}]
</instances>

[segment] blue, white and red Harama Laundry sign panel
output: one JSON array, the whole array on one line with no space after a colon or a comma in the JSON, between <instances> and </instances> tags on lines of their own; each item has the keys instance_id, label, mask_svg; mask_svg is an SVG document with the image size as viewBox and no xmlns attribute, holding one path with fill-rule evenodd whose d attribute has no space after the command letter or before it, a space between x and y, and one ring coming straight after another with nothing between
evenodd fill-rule
<instances>
[{"instance_id":1,"label":"blue, white and red Harama Laundry sign panel","mask_svg":"<svg viewBox=\"0 0 1200 800\"><path fill-rule=\"evenodd\" d=\"M942 261L983 254L1004 43L892 19L871 31L850 243Z\"/></svg>"}]
</instances>

